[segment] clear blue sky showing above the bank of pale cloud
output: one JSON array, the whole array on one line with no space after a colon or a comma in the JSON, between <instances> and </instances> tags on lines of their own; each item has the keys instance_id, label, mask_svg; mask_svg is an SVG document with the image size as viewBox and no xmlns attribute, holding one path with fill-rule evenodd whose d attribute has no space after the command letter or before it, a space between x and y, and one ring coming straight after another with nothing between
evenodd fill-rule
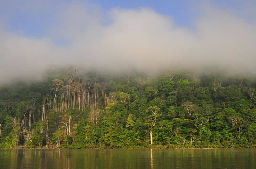
<instances>
[{"instance_id":1,"label":"clear blue sky showing above the bank of pale cloud","mask_svg":"<svg viewBox=\"0 0 256 169\"><path fill-rule=\"evenodd\" d=\"M138 9L151 8L157 13L170 17L180 27L190 27L198 14L198 8L203 3L211 3L220 9L233 10L238 15L244 15L243 1L236 0L90 0L76 1L97 6L105 16L113 8ZM65 6L74 1L23 1L4 0L0 6L0 21L9 31L32 37L43 37L52 26L54 16L63 11ZM249 1L247 4L250 4ZM246 15L246 14L245 14ZM250 13L246 15L250 18ZM252 16L251 16L252 17ZM107 19L106 19L107 20ZM1 26L1 25L0 25Z\"/></svg>"}]
</instances>

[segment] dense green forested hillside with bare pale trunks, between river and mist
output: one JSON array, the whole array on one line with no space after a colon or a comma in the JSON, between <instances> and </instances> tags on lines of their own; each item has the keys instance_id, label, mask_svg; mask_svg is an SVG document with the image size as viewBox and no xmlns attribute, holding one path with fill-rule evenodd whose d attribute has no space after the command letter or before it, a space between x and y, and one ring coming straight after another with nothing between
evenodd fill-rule
<instances>
[{"instance_id":1,"label":"dense green forested hillside with bare pale trunks, between river and mist","mask_svg":"<svg viewBox=\"0 0 256 169\"><path fill-rule=\"evenodd\" d=\"M0 147L256 147L256 76L48 70L0 85Z\"/></svg>"}]
</instances>

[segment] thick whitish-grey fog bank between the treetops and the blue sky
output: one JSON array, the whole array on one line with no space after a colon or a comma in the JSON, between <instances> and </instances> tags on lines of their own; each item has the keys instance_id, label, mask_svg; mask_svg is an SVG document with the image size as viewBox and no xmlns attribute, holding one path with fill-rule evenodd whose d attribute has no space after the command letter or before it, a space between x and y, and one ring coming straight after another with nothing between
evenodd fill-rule
<instances>
[{"instance_id":1,"label":"thick whitish-grey fog bank between the treetops and the blue sky","mask_svg":"<svg viewBox=\"0 0 256 169\"><path fill-rule=\"evenodd\" d=\"M44 5L24 10L54 10ZM253 13L254 7L251 4L248 12ZM18 34L2 20L1 82L40 77L53 65L69 64L112 72L203 71L209 67L213 71L256 71L255 19L230 9L211 3L197 5L192 24L184 27L150 8L113 8L107 14L90 3L65 3L59 8L61 12L52 15L54 22L40 38Z\"/></svg>"}]
</instances>

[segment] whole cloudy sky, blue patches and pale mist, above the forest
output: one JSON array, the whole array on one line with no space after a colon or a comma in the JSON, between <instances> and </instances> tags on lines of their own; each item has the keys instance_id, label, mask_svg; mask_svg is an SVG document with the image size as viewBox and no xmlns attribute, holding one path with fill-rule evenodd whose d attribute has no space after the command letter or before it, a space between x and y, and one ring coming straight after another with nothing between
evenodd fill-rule
<instances>
[{"instance_id":1,"label":"whole cloudy sky, blue patches and pale mist, above the forest","mask_svg":"<svg viewBox=\"0 0 256 169\"><path fill-rule=\"evenodd\" d=\"M0 5L0 81L52 64L119 71L255 71L253 0L18 1Z\"/></svg>"}]
</instances>

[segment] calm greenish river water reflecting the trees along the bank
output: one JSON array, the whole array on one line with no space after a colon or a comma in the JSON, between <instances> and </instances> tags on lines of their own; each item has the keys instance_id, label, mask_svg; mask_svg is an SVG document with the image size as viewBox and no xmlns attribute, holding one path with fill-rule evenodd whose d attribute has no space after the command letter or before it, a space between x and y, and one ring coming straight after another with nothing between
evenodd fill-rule
<instances>
[{"instance_id":1,"label":"calm greenish river water reflecting the trees along the bank","mask_svg":"<svg viewBox=\"0 0 256 169\"><path fill-rule=\"evenodd\" d=\"M256 149L0 149L0 168L256 168Z\"/></svg>"}]
</instances>

